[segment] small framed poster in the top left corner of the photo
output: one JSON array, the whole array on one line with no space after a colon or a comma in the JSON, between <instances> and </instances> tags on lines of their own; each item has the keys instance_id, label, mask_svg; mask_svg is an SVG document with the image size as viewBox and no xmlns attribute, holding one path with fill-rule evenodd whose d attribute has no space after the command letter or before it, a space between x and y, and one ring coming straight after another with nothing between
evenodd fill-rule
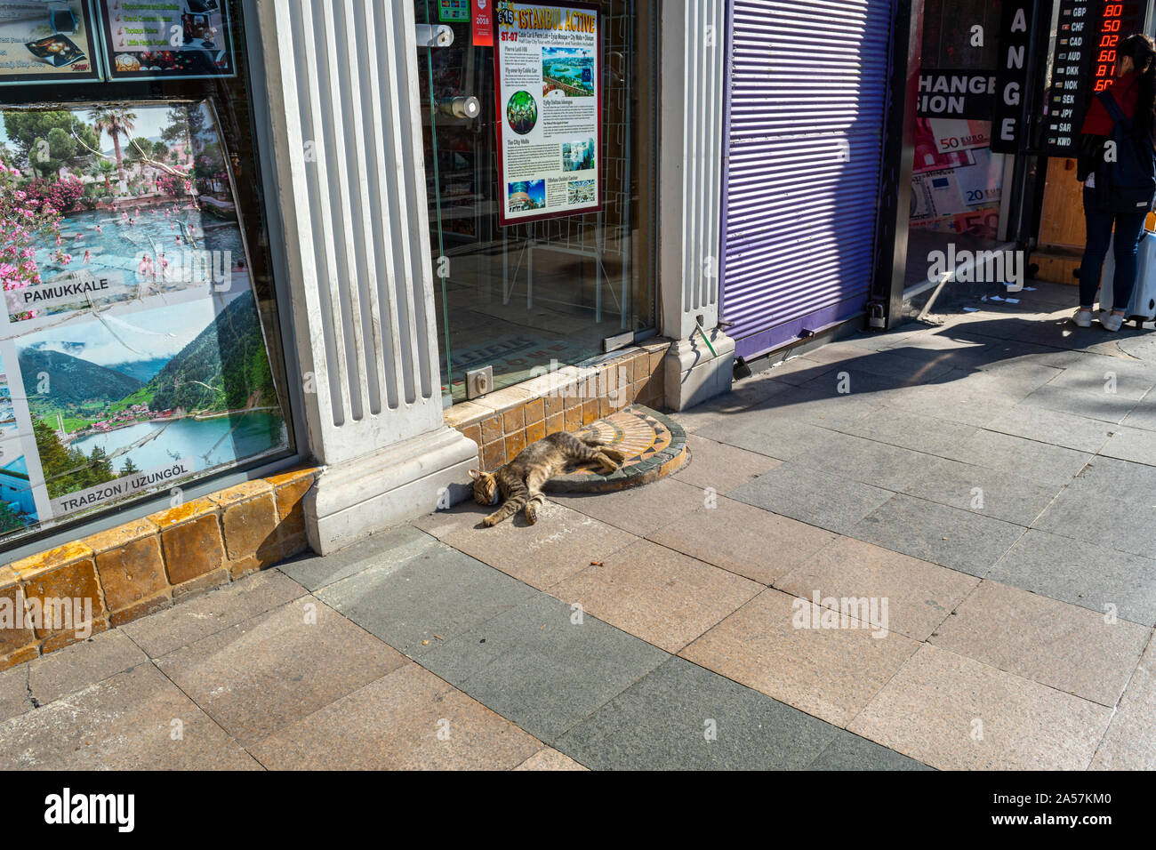
<instances>
[{"instance_id":1,"label":"small framed poster in the top left corner of the photo","mask_svg":"<svg viewBox=\"0 0 1156 850\"><path fill-rule=\"evenodd\" d=\"M0 86L101 79L88 0L0 0Z\"/></svg>"}]
</instances>

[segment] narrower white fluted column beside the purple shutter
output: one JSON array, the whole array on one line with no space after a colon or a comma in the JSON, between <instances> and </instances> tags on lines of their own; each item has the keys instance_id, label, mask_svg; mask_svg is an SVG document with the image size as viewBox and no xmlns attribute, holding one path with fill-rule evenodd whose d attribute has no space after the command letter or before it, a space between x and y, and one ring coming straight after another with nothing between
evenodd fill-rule
<instances>
[{"instance_id":1,"label":"narrower white fluted column beside the purple shutter","mask_svg":"<svg viewBox=\"0 0 1156 850\"><path fill-rule=\"evenodd\" d=\"M660 8L659 286L662 334L676 340L665 362L666 404L682 411L729 389L734 363L734 341L718 327L726 0Z\"/></svg>"}]
</instances>

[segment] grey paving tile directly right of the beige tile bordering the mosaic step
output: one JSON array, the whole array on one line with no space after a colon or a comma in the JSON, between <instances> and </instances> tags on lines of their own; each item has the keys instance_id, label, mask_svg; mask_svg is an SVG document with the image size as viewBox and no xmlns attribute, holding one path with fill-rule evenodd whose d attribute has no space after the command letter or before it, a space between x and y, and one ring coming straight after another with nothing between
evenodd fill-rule
<instances>
[{"instance_id":1,"label":"grey paving tile directly right of the beige tile bordering the mosaic step","mask_svg":"<svg viewBox=\"0 0 1156 850\"><path fill-rule=\"evenodd\" d=\"M892 495L842 475L787 463L732 490L729 497L844 534Z\"/></svg>"}]
</instances>

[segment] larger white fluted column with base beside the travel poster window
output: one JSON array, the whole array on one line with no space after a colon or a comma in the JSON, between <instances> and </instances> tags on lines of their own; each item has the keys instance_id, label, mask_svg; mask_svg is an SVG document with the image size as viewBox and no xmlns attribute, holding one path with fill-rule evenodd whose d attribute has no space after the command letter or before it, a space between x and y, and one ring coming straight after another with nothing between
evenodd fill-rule
<instances>
[{"instance_id":1,"label":"larger white fluted column with base beside the travel poster window","mask_svg":"<svg viewBox=\"0 0 1156 850\"><path fill-rule=\"evenodd\" d=\"M410 0L258 0L325 554L432 510L477 446L443 424Z\"/></svg>"}]
</instances>

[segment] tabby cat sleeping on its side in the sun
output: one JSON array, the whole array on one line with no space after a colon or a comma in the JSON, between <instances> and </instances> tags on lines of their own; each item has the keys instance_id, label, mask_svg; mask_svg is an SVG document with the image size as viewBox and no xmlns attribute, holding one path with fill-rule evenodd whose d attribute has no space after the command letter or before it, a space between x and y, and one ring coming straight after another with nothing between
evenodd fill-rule
<instances>
[{"instance_id":1,"label":"tabby cat sleeping on its side in the sun","mask_svg":"<svg viewBox=\"0 0 1156 850\"><path fill-rule=\"evenodd\" d=\"M494 472L470 470L474 479L474 501L479 504L497 504L499 496L505 503L482 520L486 525L497 525L525 508L526 522L538 522L538 509L546 498L542 485L551 475L564 471L570 464L596 461L603 472L614 472L627 456L600 443L593 434L568 434L558 431L527 445L505 466Z\"/></svg>"}]
</instances>

